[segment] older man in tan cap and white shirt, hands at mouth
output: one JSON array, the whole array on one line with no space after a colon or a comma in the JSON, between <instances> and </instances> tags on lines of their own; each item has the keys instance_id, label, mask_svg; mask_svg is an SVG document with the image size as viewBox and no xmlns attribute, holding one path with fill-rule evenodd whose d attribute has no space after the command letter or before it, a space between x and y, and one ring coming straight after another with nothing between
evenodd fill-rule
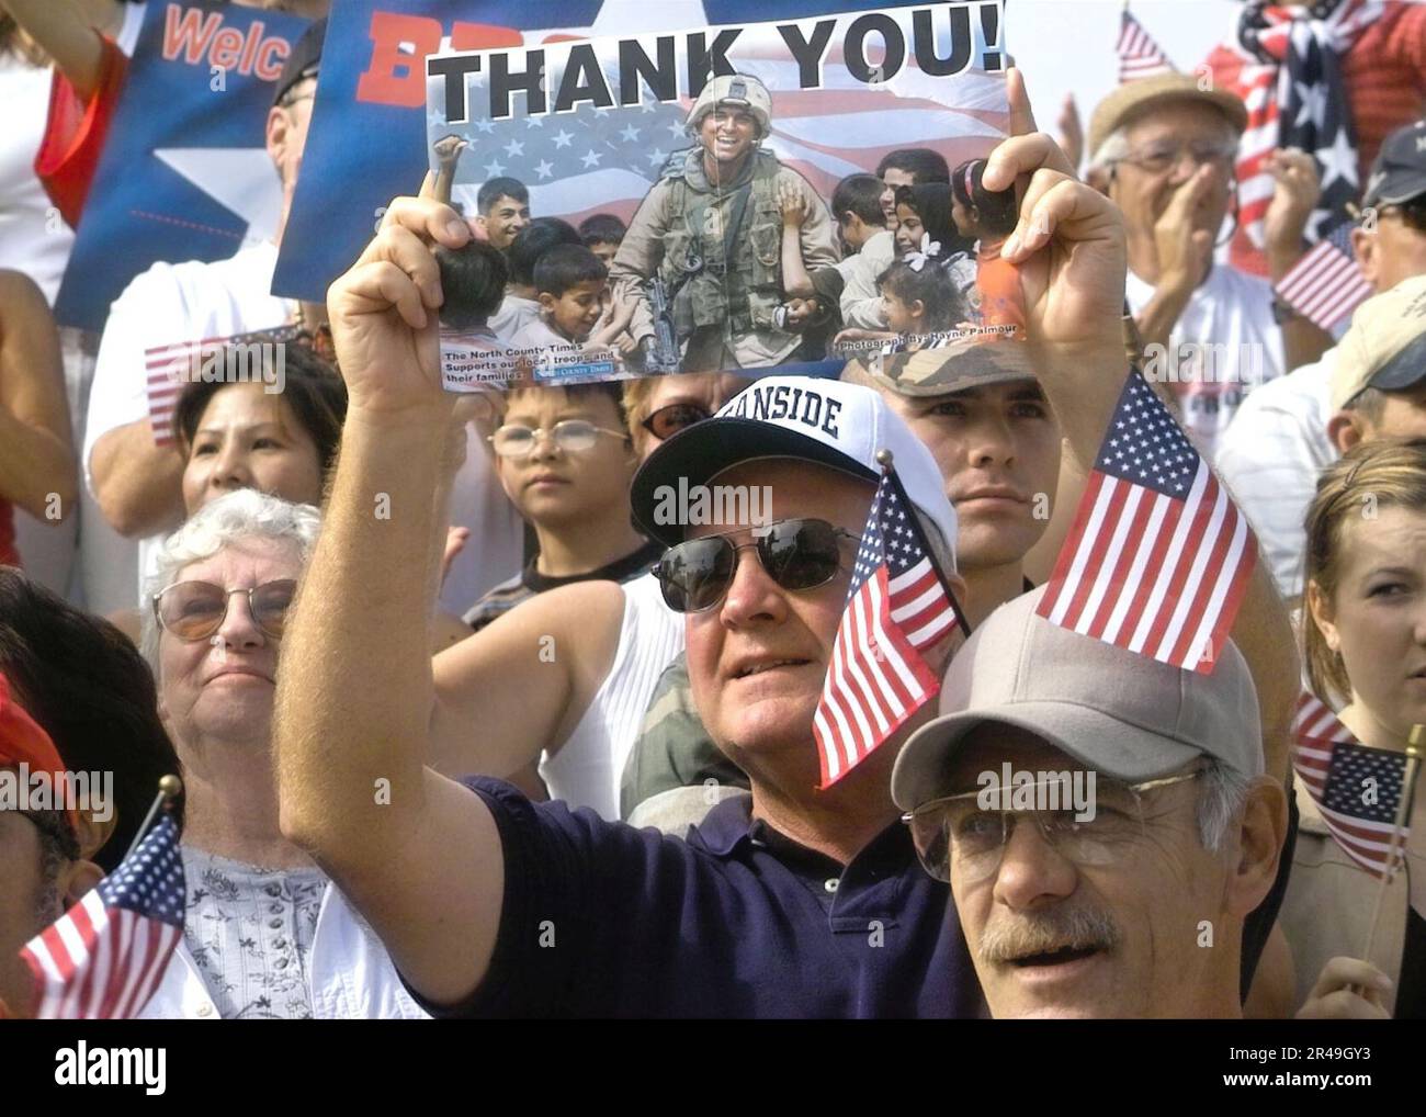
<instances>
[{"instance_id":1,"label":"older man in tan cap and white shirt, hands at mouth","mask_svg":"<svg viewBox=\"0 0 1426 1117\"><path fill-rule=\"evenodd\" d=\"M1125 217L1125 294L1145 347L1145 375L1169 385L1209 458L1252 388L1316 359L1330 344L1275 305L1266 278L1214 262L1246 123L1236 96L1201 88L1191 74L1128 81L1089 121L1089 181ZM1276 190L1266 254L1276 281L1302 255L1318 187L1306 153L1273 153L1269 167Z\"/></svg>"}]
</instances>

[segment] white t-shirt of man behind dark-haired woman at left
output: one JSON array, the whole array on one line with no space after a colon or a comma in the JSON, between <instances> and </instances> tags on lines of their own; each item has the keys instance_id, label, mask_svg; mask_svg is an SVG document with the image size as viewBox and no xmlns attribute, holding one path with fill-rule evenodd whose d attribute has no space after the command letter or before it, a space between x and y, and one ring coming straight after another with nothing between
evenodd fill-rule
<instances>
[{"instance_id":1,"label":"white t-shirt of man behind dark-haired woman at left","mask_svg":"<svg viewBox=\"0 0 1426 1117\"><path fill-rule=\"evenodd\" d=\"M205 264L154 264L137 275L108 311L94 365L88 421L84 425L84 484L94 492L90 455L113 429L148 415L144 351L160 345L227 338L272 330L292 318L295 304L268 294L277 245L268 241ZM173 529L177 525L170 525ZM165 532L138 541L138 593Z\"/></svg>"}]
</instances>

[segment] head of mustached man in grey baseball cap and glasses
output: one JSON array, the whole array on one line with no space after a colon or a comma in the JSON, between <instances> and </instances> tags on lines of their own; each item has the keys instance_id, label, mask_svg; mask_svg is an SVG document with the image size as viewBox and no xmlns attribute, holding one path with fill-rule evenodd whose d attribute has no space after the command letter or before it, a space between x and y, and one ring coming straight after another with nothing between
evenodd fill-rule
<instances>
[{"instance_id":1,"label":"head of mustached man in grey baseball cap and glasses","mask_svg":"<svg viewBox=\"0 0 1426 1117\"><path fill-rule=\"evenodd\" d=\"M951 662L891 796L948 880L995 1017L1235 1017L1286 833L1238 649L1185 672L1051 625L1044 591Z\"/></svg>"}]
</instances>

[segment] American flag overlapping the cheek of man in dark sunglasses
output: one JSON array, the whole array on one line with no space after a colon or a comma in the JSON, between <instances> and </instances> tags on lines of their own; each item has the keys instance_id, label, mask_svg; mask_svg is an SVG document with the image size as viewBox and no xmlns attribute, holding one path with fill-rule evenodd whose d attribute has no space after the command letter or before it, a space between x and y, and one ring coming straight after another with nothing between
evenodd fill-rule
<instances>
[{"instance_id":1,"label":"American flag overlapping the cheek of man in dark sunglasses","mask_svg":"<svg viewBox=\"0 0 1426 1117\"><path fill-rule=\"evenodd\" d=\"M941 682L920 653L957 623L955 603L911 504L888 469L861 534L813 719L823 787L846 776L935 698Z\"/></svg>"}]
</instances>

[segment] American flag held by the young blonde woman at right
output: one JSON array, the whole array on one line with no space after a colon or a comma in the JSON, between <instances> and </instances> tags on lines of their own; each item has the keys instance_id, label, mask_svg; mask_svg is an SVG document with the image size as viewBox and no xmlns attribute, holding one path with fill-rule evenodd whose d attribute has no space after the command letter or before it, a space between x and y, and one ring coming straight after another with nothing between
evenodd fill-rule
<instances>
[{"instance_id":1,"label":"American flag held by the young blonde woman at right","mask_svg":"<svg viewBox=\"0 0 1426 1117\"><path fill-rule=\"evenodd\" d=\"M1292 767L1343 852L1379 877L1395 873L1407 835L1402 826L1397 860L1387 864L1406 780L1405 753L1360 745L1326 703L1303 693L1293 720Z\"/></svg>"}]
</instances>

